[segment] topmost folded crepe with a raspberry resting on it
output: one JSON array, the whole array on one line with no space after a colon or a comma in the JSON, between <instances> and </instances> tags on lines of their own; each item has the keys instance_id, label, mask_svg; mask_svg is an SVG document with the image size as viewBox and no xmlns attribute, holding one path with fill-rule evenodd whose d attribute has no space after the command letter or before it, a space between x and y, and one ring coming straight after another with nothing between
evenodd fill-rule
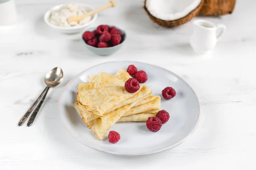
<instances>
[{"instance_id":1,"label":"topmost folded crepe with a raspberry resting on it","mask_svg":"<svg viewBox=\"0 0 256 170\"><path fill-rule=\"evenodd\" d=\"M83 105L87 111L96 115L109 113L111 109L136 95L143 86L135 93L129 93L124 86L104 86L87 91L77 92L77 102Z\"/></svg>"}]
</instances>

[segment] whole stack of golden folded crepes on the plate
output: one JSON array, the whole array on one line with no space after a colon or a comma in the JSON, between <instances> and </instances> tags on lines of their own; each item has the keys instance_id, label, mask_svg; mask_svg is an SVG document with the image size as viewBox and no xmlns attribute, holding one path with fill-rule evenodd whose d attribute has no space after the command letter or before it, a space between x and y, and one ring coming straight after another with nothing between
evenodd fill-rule
<instances>
[{"instance_id":1,"label":"whole stack of golden folded crepes on the plate","mask_svg":"<svg viewBox=\"0 0 256 170\"><path fill-rule=\"evenodd\" d=\"M145 122L160 110L160 96L140 85L135 93L125 90L131 76L124 69L115 75L100 72L88 76L90 82L77 86L77 102L72 104L82 121L102 140L116 122Z\"/></svg>"}]
</instances>

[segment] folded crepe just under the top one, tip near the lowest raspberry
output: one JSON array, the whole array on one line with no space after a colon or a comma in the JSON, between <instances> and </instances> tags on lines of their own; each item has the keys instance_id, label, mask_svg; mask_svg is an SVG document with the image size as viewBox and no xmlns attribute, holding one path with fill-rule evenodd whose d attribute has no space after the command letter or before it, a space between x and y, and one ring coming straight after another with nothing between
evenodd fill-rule
<instances>
[{"instance_id":1,"label":"folded crepe just under the top one, tip near the lowest raspberry","mask_svg":"<svg viewBox=\"0 0 256 170\"><path fill-rule=\"evenodd\" d=\"M140 102L141 100L147 98L151 94L152 90L151 88L147 86L143 86L139 93L135 95L135 102L122 106L121 108L118 108L111 113L108 113L104 116L101 116L95 120L93 120L93 125L91 126L92 132L96 135L97 139L102 140L105 134L108 132L108 130L125 114L127 113L131 108L134 107L134 105L137 104L137 102Z\"/></svg>"}]
</instances>

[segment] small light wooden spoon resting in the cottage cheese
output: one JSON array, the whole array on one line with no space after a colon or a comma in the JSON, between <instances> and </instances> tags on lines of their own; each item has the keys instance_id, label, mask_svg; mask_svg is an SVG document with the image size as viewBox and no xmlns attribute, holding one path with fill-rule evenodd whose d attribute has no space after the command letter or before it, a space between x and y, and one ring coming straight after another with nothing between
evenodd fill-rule
<instances>
[{"instance_id":1,"label":"small light wooden spoon resting in the cottage cheese","mask_svg":"<svg viewBox=\"0 0 256 170\"><path fill-rule=\"evenodd\" d=\"M111 0L108 4L106 4L105 6L99 7L93 11L90 11L86 14L80 15L80 16L72 16L68 18L68 22L79 22L82 19L84 19L85 17L89 17L92 14L95 14L96 12L102 11L104 9L110 8L110 7L114 7L116 6L116 1L115 0Z\"/></svg>"}]
</instances>

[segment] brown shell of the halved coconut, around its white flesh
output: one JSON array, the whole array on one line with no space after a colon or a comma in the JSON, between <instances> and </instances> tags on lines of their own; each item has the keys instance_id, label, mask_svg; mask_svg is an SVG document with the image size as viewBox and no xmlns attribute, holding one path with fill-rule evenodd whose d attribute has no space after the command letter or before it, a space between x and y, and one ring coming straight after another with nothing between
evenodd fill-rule
<instances>
[{"instance_id":1,"label":"brown shell of the halved coconut, around its white flesh","mask_svg":"<svg viewBox=\"0 0 256 170\"><path fill-rule=\"evenodd\" d=\"M191 11L188 15L178 20L172 20L172 21L160 20L154 17L153 15L151 15L148 9L146 8L146 0L144 1L144 9L148 14L148 16L150 17L150 19L154 21L154 23L157 23L158 25L164 26L164 27L175 27L175 26L180 26L184 23L189 22L193 17L198 15L203 6L203 3L204 3L204 0L201 0L201 3L198 5L198 7L195 8L193 11Z\"/></svg>"}]
</instances>

